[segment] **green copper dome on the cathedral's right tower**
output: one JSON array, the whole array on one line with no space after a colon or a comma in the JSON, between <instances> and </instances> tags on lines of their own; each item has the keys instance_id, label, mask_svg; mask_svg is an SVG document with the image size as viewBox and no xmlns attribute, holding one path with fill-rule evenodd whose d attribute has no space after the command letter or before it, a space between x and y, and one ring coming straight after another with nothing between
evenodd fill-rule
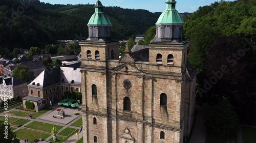
<instances>
[{"instance_id":1,"label":"green copper dome on the cathedral's right tower","mask_svg":"<svg viewBox=\"0 0 256 143\"><path fill-rule=\"evenodd\" d=\"M175 9L176 1L168 0L166 3L166 10L160 15L156 24L184 24L180 14Z\"/></svg>"}]
</instances>

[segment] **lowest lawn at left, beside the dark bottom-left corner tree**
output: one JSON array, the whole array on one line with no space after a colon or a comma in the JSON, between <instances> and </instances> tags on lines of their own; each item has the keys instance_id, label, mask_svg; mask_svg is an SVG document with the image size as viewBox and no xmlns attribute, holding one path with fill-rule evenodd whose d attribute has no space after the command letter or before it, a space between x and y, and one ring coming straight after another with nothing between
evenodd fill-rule
<instances>
[{"instance_id":1,"label":"lowest lawn at left, beside the dark bottom-left corner tree","mask_svg":"<svg viewBox=\"0 0 256 143\"><path fill-rule=\"evenodd\" d=\"M45 133L41 133L41 132L37 132L37 131L31 131L31 130L27 130L27 129L19 129L16 132L16 136L22 140L28 138L29 141L36 139L36 138L42 138L42 139L46 139L47 137L49 137L51 134L45 134Z\"/></svg>"}]
</instances>

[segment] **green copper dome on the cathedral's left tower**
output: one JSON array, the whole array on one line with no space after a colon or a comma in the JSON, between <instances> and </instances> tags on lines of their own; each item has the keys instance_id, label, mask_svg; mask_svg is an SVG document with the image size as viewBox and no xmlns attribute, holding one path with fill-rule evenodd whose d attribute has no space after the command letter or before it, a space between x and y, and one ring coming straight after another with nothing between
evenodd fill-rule
<instances>
[{"instance_id":1,"label":"green copper dome on the cathedral's left tower","mask_svg":"<svg viewBox=\"0 0 256 143\"><path fill-rule=\"evenodd\" d=\"M109 18L103 14L103 6L100 1L97 1L95 6L95 12L90 18L88 25L112 25Z\"/></svg>"}]
</instances>

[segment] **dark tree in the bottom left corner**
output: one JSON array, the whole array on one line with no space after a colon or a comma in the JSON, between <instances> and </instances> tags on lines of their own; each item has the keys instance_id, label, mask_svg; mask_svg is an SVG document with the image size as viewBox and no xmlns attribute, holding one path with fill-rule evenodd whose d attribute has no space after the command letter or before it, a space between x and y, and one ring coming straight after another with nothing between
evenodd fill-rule
<instances>
[{"instance_id":1,"label":"dark tree in the bottom left corner","mask_svg":"<svg viewBox=\"0 0 256 143\"><path fill-rule=\"evenodd\" d=\"M7 122L0 123L0 140L5 143L19 143L19 139L11 131L10 125Z\"/></svg>"}]
</instances>

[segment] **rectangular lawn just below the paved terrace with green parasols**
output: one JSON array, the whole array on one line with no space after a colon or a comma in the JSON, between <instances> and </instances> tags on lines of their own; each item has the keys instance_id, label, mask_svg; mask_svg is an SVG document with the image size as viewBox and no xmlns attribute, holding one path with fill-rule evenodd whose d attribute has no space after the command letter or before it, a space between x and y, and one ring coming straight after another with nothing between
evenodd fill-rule
<instances>
[{"instance_id":1,"label":"rectangular lawn just below the paved terrace with green parasols","mask_svg":"<svg viewBox=\"0 0 256 143\"><path fill-rule=\"evenodd\" d=\"M37 121L30 123L26 127L35 129L35 130L45 131L45 132L51 132L51 129L53 127L56 127L58 130L62 128L62 126L48 124L48 123L42 123L42 122L37 122Z\"/></svg>"}]
</instances>

